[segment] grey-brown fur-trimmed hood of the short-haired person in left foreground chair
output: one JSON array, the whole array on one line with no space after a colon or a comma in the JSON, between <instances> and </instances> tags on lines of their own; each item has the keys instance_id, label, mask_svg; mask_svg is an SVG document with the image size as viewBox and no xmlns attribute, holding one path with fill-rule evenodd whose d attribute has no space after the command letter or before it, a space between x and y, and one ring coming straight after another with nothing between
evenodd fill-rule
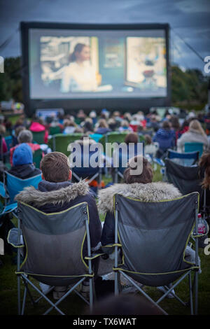
<instances>
[{"instance_id":1,"label":"grey-brown fur-trimmed hood of the short-haired person in left foreground chair","mask_svg":"<svg viewBox=\"0 0 210 329\"><path fill-rule=\"evenodd\" d=\"M40 185L51 186L52 188L45 188L41 190ZM59 184L61 184L59 186ZM26 204L33 204L34 207L41 207L45 204L64 204L76 199L78 196L85 196L89 193L89 186L86 181L78 183L49 183L41 181L38 184L38 190L33 186L29 186L16 195L15 200L18 202L25 202Z\"/></svg>"}]
</instances>

